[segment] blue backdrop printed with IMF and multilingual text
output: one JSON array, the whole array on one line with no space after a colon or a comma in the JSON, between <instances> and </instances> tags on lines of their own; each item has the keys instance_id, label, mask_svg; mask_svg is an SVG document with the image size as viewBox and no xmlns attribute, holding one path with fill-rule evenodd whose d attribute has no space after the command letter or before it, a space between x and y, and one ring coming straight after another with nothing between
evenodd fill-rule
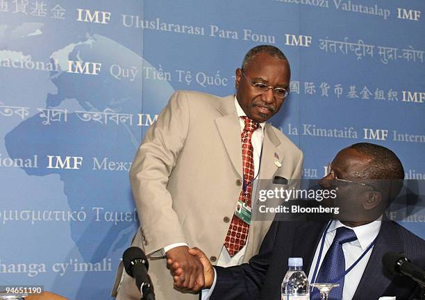
<instances>
[{"instance_id":1,"label":"blue backdrop printed with IMF and multilingual text","mask_svg":"<svg viewBox=\"0 0 425 300\"><path fill-rule=\"evenodd\" d=\"M292 67L272 122L324 175L355 142L425 179L422 0L0 0L0 284L108 299L138 226L128 169L175 90L235 92L258 44ZM404 226L425 236L424 210Z\"/></svg>"}]
</instances>

